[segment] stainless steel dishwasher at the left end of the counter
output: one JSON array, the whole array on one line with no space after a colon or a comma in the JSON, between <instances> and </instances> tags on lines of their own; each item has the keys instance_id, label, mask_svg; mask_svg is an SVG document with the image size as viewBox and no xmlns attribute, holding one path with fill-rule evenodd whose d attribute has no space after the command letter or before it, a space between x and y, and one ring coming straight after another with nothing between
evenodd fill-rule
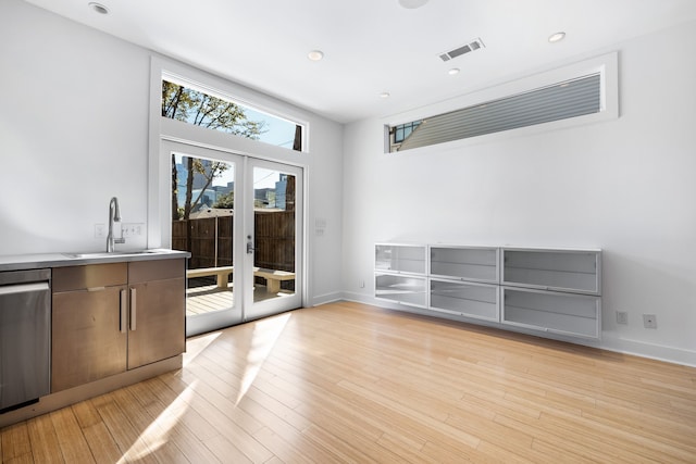
<instances>
[{"instance_id":1,"label":"stainless steel dishwasher at the left end of the counter","mask_svg":"<svg viewBox=\"0 0 696 464\"><path fill-rule=\"evenodd\" d=\"M51 389L51 271L0 273L0 414Z\"/></svg>"}]
</instances>

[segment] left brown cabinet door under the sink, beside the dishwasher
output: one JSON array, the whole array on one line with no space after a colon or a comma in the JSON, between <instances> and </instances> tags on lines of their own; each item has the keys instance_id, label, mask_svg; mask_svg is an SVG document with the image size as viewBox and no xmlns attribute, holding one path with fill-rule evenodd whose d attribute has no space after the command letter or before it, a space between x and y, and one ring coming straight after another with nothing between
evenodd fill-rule
<instances>
[{"instance_id":1,"label":"left brown cabinet door under the sink, beside the dishwasher","mask_svg":"<svg viewBox=\"0 0 696 464\"><path fill-rule=\"evenodd\" d=\"M53 293L52 392L125 372L125 287Z\"/></svg>"}]
</instances>

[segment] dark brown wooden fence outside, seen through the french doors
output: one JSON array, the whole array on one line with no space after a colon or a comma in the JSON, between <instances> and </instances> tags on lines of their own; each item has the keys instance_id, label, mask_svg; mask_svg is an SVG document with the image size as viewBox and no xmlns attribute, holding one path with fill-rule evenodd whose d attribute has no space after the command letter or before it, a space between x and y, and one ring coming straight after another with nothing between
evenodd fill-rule
<instances>
[{"instance_id":1,"label":"dark brown wooden fence outside, seen through the french doors","mask_svg":"<svg viewBox=\"0 0 696 464\"><path fill-rule=\"evenodd\" d=\"M253 213L253 265L295 272L295 211ZM172 249L188 251L188 268L233 265L234 216L204 217L172 223ZM246 238L241 238L246 241ZM293 280L283 283L294 287Z\"/></svg>"}]
</instances>

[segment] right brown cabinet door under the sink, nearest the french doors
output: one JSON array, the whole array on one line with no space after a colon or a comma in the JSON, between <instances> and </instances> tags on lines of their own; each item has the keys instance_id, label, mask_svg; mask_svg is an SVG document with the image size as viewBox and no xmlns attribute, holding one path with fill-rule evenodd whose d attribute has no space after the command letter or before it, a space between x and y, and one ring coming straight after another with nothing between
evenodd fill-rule
<instances>
[{"instance_id":1,"label":"right brown cabinet door under the sink, nearest the french doors","mask_svg":"<svg viewBox=\"0 0 696 464\"><path fill-rule=\"evenodd\" d=\"M129 286L129 369L185 351L185 285L182 277Z\"/></svg>"}]
</instances>

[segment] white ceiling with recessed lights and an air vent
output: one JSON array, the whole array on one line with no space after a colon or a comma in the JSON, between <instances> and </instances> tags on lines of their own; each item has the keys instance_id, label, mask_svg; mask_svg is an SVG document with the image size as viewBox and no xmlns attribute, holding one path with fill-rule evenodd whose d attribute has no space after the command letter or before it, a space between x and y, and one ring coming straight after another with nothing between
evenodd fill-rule
<instances>
[{"instance_id":1,"label":"white ceiling with recessed lights and an air vent","mask_svg":"<svg viewBox=\"0 0 696 464\"><path fill-rule=\"evenodd\" d=\"M415 10L397 0L98 0L108 15L90 0L26 1L338 122L411 110L696 21L696 0L430 0ZM566 39L549 43L560 30ZM439 60L477 37L485 49ZM324 60L308 60L314 49Z\"/></svg>"}]
</instances>

